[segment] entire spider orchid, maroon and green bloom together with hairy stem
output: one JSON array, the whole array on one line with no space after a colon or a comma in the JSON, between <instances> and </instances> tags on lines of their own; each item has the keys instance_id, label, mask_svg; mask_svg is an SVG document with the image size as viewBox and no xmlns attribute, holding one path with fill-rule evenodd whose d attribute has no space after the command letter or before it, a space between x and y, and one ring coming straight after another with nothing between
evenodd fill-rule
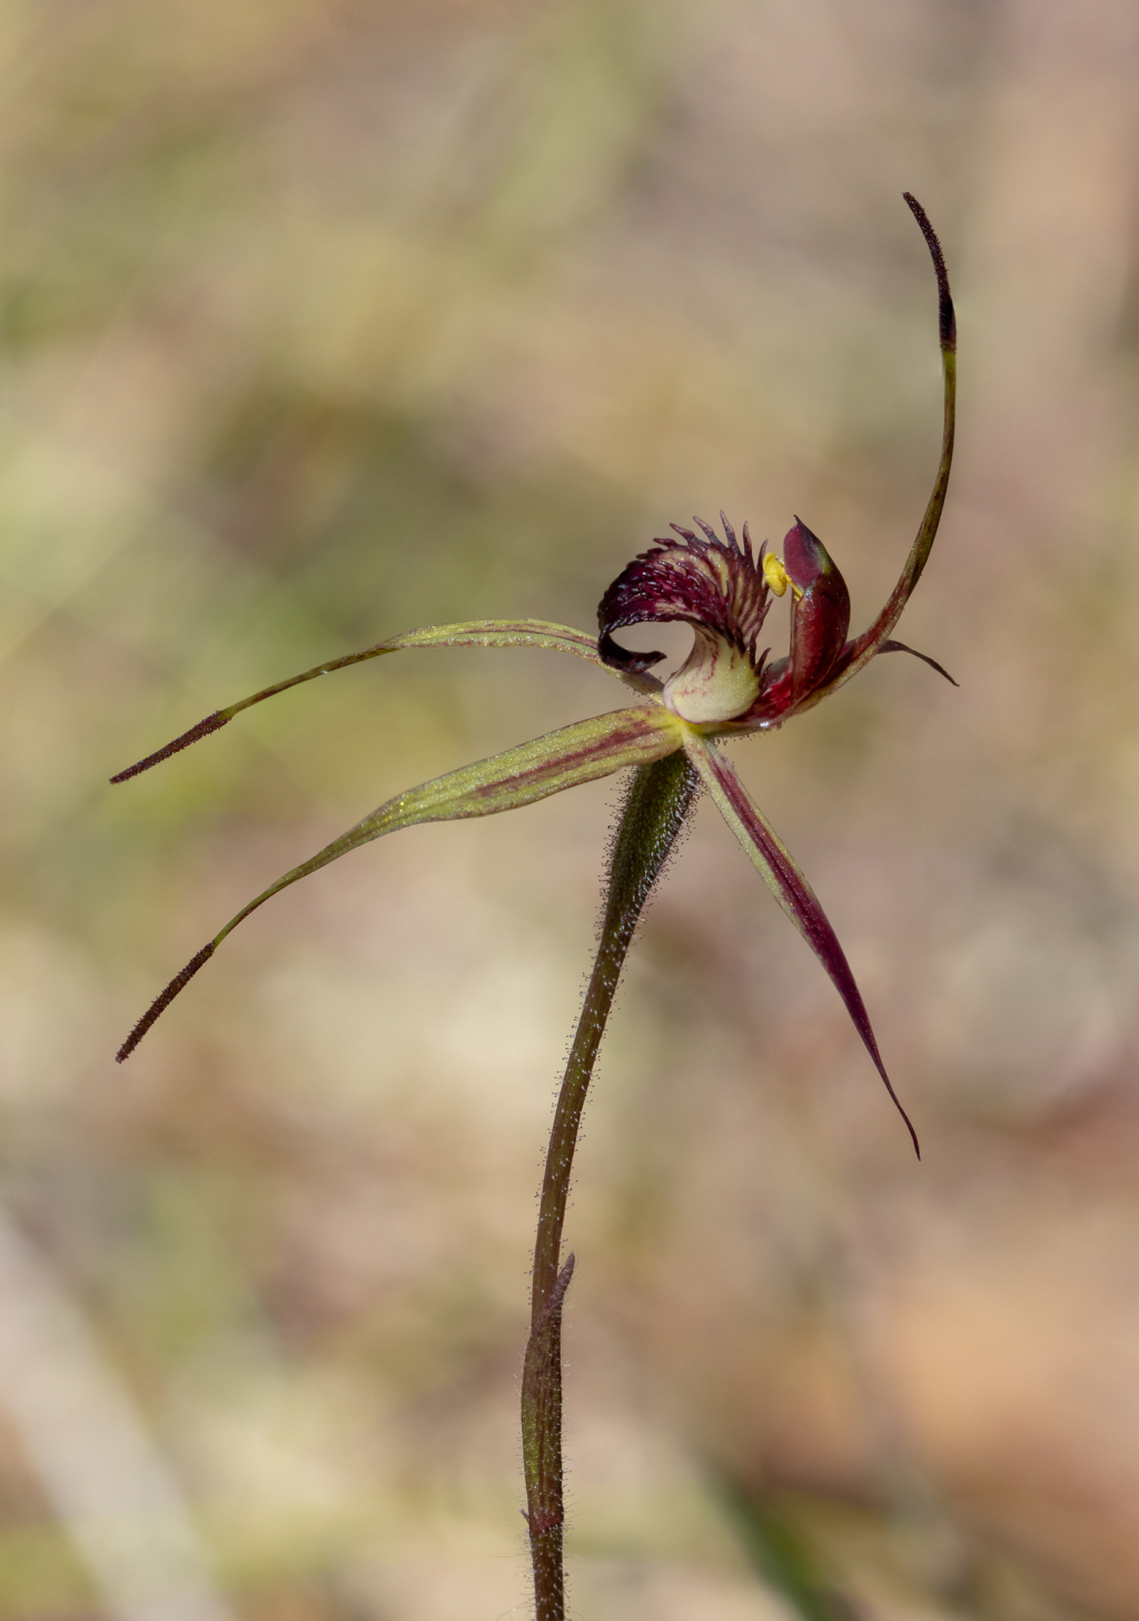
<instances>
[{"instance_id":1,"label":"entire spider orchid, maroon and green bloom together with hairy stem","mask_svg":"<svg viewBox=\"0 0 1139 1621\"><path fill-rule=\"evenodd\" d=\"M136 776L288 687L410 648L546 648L596 665L632 692L635 702L622 708L562 726L389 799L243 906L170 981L118 1050L122 1062L250 913L331 861L420 822L515 810L578 783L637 767L611 854L598 958L551 1133L535 1251L531 1337L523 1373L523 1452L538 1621L557 1621L562 1615L561 1308L574 1256L561 1266L561 1232L577 1127L625 950L702 788L830 974L919 1149L843 947L810 883L719 747L723 739L773 731L813 708L878 653L914 652L891 632L925 567L945 506L953 460L956 326L938 238L917 199L906 193L906 203L925 235L938 280L945 431L933 493L906 566L885 608L860 635L849 635L851 597L838 566L799 517L778 556L766 541L753 546L747 524L737 537L721 512L723 535L700 519L695 520L700 533L672 525L676 538L656 540L617 575L598 608L598 637L543 619L484 619L410 631L230 704L112 778L122 783ZM786 658L770 661L770 648L760 650L763 622L771 597L787 592L791 645ZM633 624L668 621L689 624L693 640L680 668L659 681L650 671L664 653L630 652L614 635ZM915 657L953 679L925 653Z\"/></svg>"}]
</instances>

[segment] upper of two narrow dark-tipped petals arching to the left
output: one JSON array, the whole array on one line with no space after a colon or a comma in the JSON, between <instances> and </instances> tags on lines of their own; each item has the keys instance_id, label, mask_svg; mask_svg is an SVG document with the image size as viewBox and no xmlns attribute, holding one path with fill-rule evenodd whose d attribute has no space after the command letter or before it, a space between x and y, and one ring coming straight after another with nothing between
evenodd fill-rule
<instances>
[{"instance_id":1,"label":"upper of two narrow dark-tipped petals arching to the left","mask_svg":"<svg viewBox=\"0 0 1139 1621\"><path fill-rule=\"evenodd\" d=\"M329 676L334 669L347 669L348 665L361 665L368 658L382 658L384 653L399 653L413 647L541 647L552 653L572 653L575 658L585 658L590 665L596 665L598 669L604 669L619 681L624 681L633 692L650 695L661 691L661 682L655 676L614 669L612 665L604 663L598 653L596 640L587 635L585 631L575 631L572 626L549 624L546 619L468 619L462 624L429 624L420 631L392 635L386 642L378 642L376 647L366 647L361 653L345 653L343 658L332 658L324 665L314 665L313 669L305 669L300 676L290 676L288 681L277 681L272 687L262 687L261 692L241 699L240 704L230 704L228 708L215 710L206 720L199 720L196 726L191 726L190 731L183 731L173 742L167 742L154 754L147 754L144 760L128 765L125 772L118 772L110 780L112 783L125 783L131 776L138 776L139 772L147 772L152 765L160 765L162 760L169 760L172 754L188 749L199 738L207 738L211 731L219 731L235 715L240 715L241 710L253 708L254 704L262 704L279 692L298 687L305 681L316 681L318 676Z\"/></svg>"}]
</instances>

